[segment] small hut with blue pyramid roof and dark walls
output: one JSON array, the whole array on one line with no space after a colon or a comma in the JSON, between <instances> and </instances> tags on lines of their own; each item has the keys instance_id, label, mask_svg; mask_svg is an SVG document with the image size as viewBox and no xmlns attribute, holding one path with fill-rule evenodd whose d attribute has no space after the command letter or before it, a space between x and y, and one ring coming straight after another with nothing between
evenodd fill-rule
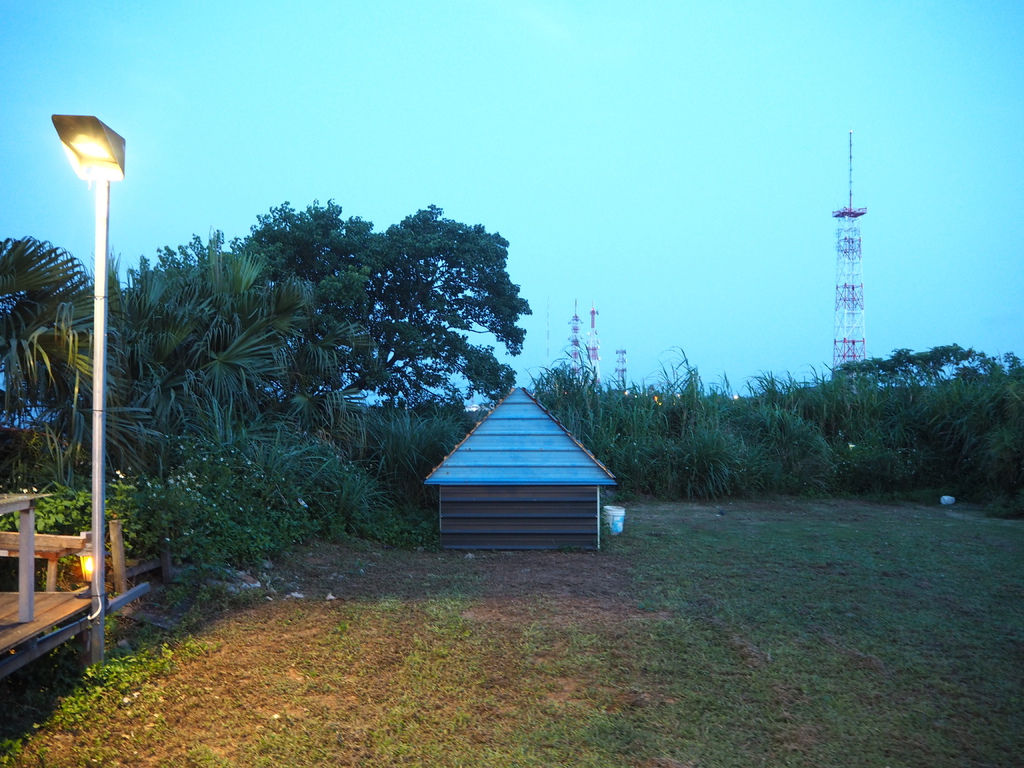
<instances>
[{"instance_id":1,"label":"small hut with blue pyramid roof and dark walls","mask_svg":"<svg viewBox=\"0 0 1024 768\"><path fill-rule=\"evenodd\" d=\"M445 549L600 547L614 476L526 390L513 389L424 481Z\"/></svg>"}]
</instances>

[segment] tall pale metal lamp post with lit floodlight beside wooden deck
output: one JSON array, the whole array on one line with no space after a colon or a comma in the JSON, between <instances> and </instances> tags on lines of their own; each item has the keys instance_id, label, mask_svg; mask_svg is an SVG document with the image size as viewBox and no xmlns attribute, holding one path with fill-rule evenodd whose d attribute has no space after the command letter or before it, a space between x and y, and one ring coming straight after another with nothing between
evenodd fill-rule
<instances>
[{"instance_id":1,"label":"tall pale metal lamp post with lit floodlight beside wooden deck","mask_svg":"<svg viewBox=\"0 0 1024 768\"><path fill-rule=\"evenodd\" d=\"M96 265L92 326L92 622L89 664L103 660L106 574L103 567L106 436L106 233L111 181L125 177L125 140L94 117L54 115L53 127L79 178L96 185Z\"/></svg>"}]
</instances>

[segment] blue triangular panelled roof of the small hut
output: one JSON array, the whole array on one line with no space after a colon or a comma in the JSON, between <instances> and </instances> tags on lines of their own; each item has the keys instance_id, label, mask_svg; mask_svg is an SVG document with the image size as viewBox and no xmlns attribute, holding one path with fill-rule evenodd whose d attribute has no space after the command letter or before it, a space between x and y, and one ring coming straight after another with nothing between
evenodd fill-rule
<instances>
[{"instance_id":1,"label":"blue triangular panelled roof of the small hut","mask_svg":"<svg viewBox=\"0 0 1024 768\"><path fill-rule=\"evenodd\" d=\"M513 389L428 485L614 485L614 475L526 390Z\"/></svg>"}]
</instances>

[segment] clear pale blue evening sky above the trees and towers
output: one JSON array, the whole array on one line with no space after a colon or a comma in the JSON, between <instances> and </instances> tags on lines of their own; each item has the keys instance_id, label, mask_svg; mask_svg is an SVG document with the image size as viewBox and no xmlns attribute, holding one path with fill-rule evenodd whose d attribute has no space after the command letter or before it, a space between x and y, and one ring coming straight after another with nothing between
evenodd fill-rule
<instances>
[{"instance_id":1,"label":"clear pale blue evening sky above the trees and towers","mask_svg":"<svg viewBox=\"0 0 1024 768\"><path fill-rule=\"evenodd\" d=\"M0 0L0 239L93 259L50 122L125 137L122 269L290 202L509 243L527 384L579 302L601 373L743 391L831 365L834 210L869 356L1024 356L1024 3Z\"/></svg>"}]
</instances>

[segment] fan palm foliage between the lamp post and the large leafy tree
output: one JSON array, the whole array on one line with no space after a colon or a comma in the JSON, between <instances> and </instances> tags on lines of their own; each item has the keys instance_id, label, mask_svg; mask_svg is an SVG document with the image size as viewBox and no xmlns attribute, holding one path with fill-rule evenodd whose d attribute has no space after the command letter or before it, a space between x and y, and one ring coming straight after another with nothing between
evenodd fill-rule
<instances>
[{"instance_id":1,"label":"fan palm foliage between the lamp post and the large leafy tree","mask_svg":"<svg viewBox=\"0 0 1024 768\"><path fill-rule=\"evenodd\" d=\"M359 331L316 318L309 283L269 281L258 256L222 243L197 237L129 271L112 302L112 399L143 412L158 442L239 425L330 432L353 394L339 372ZM162 451L131 447L136 466Z\"/></svg>"}]
</instances>

